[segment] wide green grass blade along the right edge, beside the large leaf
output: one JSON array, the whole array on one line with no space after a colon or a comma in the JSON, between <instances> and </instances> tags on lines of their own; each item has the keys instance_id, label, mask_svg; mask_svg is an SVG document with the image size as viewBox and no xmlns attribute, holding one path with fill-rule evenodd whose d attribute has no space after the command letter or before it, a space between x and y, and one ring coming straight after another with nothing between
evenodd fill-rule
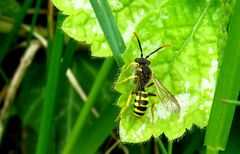
<instances>
[{"instance_id":1,"label":"wide green grass blade along the right edge, beside the large leaf","mask_svg":"<svg viewBox=\"0 0 240 154\"><path fill-rule=\"evenodd\" d=\"M237 100L240 87L240 1L236 1L230 23L228 40L217 81L213 105L205 136L206 153L225 150L235 105L221 103L222 99Z\"/></svg>"}]
</instances>

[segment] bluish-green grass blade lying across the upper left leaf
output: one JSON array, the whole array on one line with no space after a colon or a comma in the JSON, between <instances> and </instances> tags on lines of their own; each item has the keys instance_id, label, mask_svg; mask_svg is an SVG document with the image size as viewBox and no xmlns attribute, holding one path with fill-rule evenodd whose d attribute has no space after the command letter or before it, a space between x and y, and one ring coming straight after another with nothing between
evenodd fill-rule
<instances>
[{"instance_id":1,"label":"bluish-green grass blade lying across the upper left leaf","mask_svg":"<svg viewBox=\"0 0 240 154\"><path fill-rule=\"evenodd\" d=\"M122 54L126 47L108 2L106 0L90 0L90 2L118 66L123 66Z\"/></svg>"}]
</instances>

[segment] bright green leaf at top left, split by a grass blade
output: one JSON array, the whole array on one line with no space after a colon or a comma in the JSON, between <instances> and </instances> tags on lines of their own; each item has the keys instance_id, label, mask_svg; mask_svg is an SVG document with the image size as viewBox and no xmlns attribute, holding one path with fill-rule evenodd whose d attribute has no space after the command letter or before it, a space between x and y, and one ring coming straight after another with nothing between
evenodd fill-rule
<instances>
[{"instance_id":1,"label":"bright green leaf at top left, split by a grass blade","mask_svg":"<svg viewBox=\"0 0 240 154\"><path fill-rule=\"evenodd\" d=\"M53 0L52 2L63 13L69 15L62 25L65 33L78 41L92 44L92 56L108 57L112 55L89 1ZM160 0L148 0L148 2L145 0L109 1L125 42L130 40L136 25L145 14L156 9L159 3Z\"/></svg>"}]
</instances>

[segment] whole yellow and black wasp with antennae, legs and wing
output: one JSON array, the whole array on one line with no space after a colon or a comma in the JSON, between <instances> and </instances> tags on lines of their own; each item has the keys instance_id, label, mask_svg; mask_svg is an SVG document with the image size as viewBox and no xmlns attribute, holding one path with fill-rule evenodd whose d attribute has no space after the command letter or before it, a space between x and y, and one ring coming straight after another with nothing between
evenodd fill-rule
<instances>
[{"instance_id":1,"label":"whole yellow and black wasp with antennae, legs and wing","mask_svg":"<svg viewBox=\"0 0 240 154\"><path fill-rule=\"evenodd\" d=\"M140 49L140 57L135 58L135 62L129 64L125 70L127 70L130 65L135 65L135 73L134 75L119 81L118 83L126 82L127 80L134 79L134 90L131 92L127 99L126 106L121 110L119 119L128 109L131 102L131 95L135 95L134 105L133 105L133 113L136 118L141 118L147 112L149 108L149 97L157 97L159 98L159 102L166 105L167 110L173 113L180 112L180 105L174 95L167 90L167 88L156 78L154 73L150 68L151 61L148 58L160 51L160 49L167 47L169 45L163 45L152 51L146 57L143 56L142 46L138 35L134 32L134 36L136 37ZM150 86L155 86L157 94L147 92L147 88ZM152 120L154 121L153 108L156 102L152 103L151 112L152 112ZM117 120L116 119L116 120Z\"/></svg>"}]
</instances>

